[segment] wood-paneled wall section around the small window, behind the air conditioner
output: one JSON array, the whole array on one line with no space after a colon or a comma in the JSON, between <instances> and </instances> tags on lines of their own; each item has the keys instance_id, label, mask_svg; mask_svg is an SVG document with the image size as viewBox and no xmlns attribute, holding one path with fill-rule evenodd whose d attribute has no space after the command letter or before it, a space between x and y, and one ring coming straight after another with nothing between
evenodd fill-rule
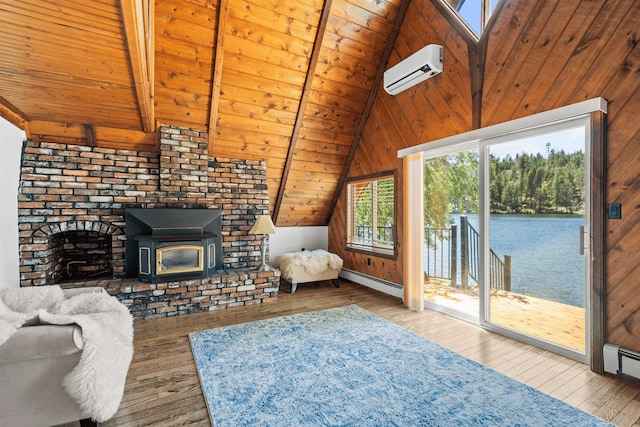
<instances>
[{"instance_id":1,"label":"wood-paneled wall section around the small window, behind the air conditioner","mask_svg":"<svg viewBox=\"0 0 640 427\"><path fill-rule=\"evenodd\" d=\"M471 130L468 45L430 0L413 0L388 63L391 67L428 44L444 47L444 72L396 96L378 90L369 120L349 168L349 177L398 171L397 244L402 243L402 161L397 150ZM329 248L345 268L402 284L397 260L345 250L344 189L329 224ZM371 261L370 264L368 261Z\"/></svg>"}]
</instances>

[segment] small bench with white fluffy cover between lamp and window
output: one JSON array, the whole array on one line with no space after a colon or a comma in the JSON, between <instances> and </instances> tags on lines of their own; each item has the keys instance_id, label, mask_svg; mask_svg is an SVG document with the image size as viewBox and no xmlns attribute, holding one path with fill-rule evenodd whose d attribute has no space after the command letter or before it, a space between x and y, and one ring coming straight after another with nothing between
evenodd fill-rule
<instances>
[{"instance_id":1,"label":"small bench with white fluffy cover between lamp and window","mask_svg":"<svg viewBox=\"0 0 640 427\"><path fill-rule=\"evenodd\" d=\"M338 275L342 269L342 258L336 254L316 249L313 251L286 252L278 255L271 265L281 272L281 277L291 282L291 293L299 283L331 280L337 288Z\"/></svg>"}]
</instances>

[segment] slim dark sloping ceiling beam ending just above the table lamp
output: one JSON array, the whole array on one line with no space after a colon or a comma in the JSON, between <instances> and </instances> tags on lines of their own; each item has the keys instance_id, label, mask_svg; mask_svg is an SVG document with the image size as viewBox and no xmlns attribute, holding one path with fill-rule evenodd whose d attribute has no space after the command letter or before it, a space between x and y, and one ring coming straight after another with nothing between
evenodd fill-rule
<instances>
[{"instance_id":1,"label":"slim dark sloping ceiling beam ending just above the table lamp","mask_svg":"<svg viewBox=\"0 0 640 427\"><path fill-rule=\"evenodd\" d=\"M322 15L320 15L320 21L318 21L318 30L316 31L315 41L313 43L313 51L311 52L311 58L309 60L309 68L307 69L307 75L305 76L304 86L302 89L302 97L300 98L300 104L298 105L298 111L296 113L296 120L293 125L293 132L291 134L291 142L289 143L289 150L287 151L287 159L284 163L284 169L282 170L282 178L280 179L280 186L278 188L278 194L273 206L271 218L273 223L277 225L278 215L280 213L280 207L282 206L282 200L284 199L284 192L287 189L287 179L289 177L289 171L291 170L291 163L293 163L293 155L296 150L296 143L298 142L298 136L300 135L300 129L302 128L302 120L307 109L307 102L309 100L309 94L311 93L311 85L313 84L313 76L316 73L316 66L318 65L318 58L320 57L320 51L322 49L322 40L324 39L324 33L327 29L327 22L331 14L331 4L333 0L325 0L322 7Z\"/></svg>"}]
</instances>

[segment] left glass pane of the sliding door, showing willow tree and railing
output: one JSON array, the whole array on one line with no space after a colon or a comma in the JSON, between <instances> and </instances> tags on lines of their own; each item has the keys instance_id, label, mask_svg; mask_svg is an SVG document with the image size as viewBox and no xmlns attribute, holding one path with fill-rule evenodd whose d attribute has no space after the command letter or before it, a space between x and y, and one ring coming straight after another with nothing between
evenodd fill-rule
<instances>
[{"instance_id":1,"label":"left glass pane of the sliding door, showing willow tree and railing","mask_svg":"<svg viewBox=\"0 0 640 427\"><path fill-rule=\"evenodd\" d=\"M478 150L424 161L425 300L479 314Z\"/></svg>"}]
</instances>

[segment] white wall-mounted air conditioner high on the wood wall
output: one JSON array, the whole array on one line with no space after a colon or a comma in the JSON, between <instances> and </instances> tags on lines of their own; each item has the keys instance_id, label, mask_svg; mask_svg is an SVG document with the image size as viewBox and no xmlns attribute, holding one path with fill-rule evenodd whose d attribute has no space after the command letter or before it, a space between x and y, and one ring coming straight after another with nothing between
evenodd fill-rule
<instances>
[{"instance_id":1,"label":"white wall-mounted air conditioner high on the wood wall","mask_svg":"<svg viewBox=\"0 0 640 427\"><path fill-rule=\"evenodd\" d=\"M442 46L430 44L384 72L384 90L395 95L442 72Z\"/></svg>"}]
</instances>

